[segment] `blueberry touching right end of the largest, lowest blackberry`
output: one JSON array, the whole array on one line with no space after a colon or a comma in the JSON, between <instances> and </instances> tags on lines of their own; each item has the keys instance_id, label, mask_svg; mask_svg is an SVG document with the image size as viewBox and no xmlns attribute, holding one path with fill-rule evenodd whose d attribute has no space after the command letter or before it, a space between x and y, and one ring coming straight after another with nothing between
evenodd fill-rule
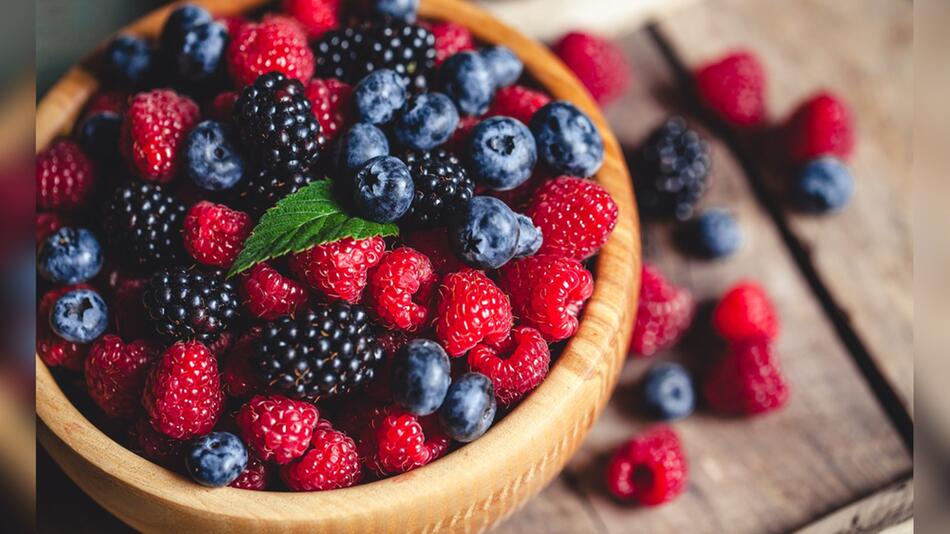
<instances>
[{"instance_id":1,"label":"blueberry touching right end of the largest, lowest blackberry","mask_svg":"<svg viewBox=\"0 0 950 534\"><path fill-rule=\"evenodd\" d=\"M435 341L414 339L393 358L393 399L416 415L435 413L451 381L449 356Z\"/></svg>"}]
</instances>

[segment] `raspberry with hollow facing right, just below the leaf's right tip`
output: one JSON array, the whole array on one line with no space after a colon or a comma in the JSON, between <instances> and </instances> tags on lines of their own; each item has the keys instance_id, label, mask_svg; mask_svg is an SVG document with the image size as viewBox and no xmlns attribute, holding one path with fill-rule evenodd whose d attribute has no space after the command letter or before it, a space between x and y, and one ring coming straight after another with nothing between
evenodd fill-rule
<instances>
[{"instance_id":1,"label":"raspberry with hollow facing right, just below the leaf's right tip","mask_svg":"<svg viewBox=\"0 0 950 534\"><path fill-rule=\"evenodd\" d=\"M369 276L369 301L386 328L414 331L426 324L437 277L432 263L409 247L387 252Z\"/></svg>"}]
</instances>

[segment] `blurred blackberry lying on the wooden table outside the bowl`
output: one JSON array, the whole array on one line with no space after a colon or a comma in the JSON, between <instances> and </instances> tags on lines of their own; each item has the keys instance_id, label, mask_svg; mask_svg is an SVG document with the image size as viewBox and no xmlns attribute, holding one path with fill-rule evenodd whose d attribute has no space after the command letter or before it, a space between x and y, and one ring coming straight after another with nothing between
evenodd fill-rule
<instances>
[{"instance_id":1,"label":"blurred blackberry lying on the wooden table outside the bowl","mask_svg":"<svg viewBox=\"0 0 950 534\"><path fill-rule=\"evenodd\" d=\"M654 130L637 156L637 203L645 215L689 219L706 192L712 160L709 146L673 117Z\"/></svg>"}]
</instances>

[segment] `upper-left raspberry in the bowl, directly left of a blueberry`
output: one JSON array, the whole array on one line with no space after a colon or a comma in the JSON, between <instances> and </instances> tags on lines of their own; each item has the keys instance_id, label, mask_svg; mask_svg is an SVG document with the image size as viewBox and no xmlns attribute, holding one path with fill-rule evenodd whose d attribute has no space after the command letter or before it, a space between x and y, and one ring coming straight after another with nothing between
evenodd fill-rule
<instances>
[{"instance_id":1,"label":"upper-left raspberry in the bowl, directly left of a blueberry","mask_svg":"<svg viewBox=\"0 0 950 534\"><path fill-rule=\"evenodd\" d=\"M198 122L198 104L167 89L132 97L122 121L122 151L129 166L149 182L175 178L179 148Z\"/></svg>"}]
</instances>

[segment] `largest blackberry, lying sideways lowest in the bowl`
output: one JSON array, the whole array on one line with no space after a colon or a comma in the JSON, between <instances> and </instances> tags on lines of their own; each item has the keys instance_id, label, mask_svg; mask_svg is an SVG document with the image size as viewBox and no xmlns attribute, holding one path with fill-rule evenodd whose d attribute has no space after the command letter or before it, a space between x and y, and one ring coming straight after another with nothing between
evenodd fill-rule
<instances>
[{"instance_id":1,"label":"largest blackberry, lying sideways lowest in the bowl","mask_svg":"<svg viewBox=\"0 0 950 534\"><path fill-rule=\"evenodd\" d=\"M336 301L268 323L252 363L275 393L313 402L370 382L382 358L366 310Z\"/></svg>"}]
</instances>

